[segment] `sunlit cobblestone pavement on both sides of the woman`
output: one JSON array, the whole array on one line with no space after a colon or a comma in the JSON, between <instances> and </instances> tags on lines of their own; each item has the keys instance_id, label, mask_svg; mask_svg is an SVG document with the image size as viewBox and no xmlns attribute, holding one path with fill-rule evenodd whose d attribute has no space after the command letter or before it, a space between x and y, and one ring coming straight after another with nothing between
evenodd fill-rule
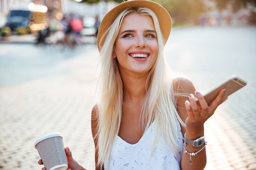
<instances>
[{"instance_id":1,"label":"sunlit cobblestone pavement on both sides of the woman","mask_svg":"<svg viewBox=\"0 0 256 170\"><path fill-rule=\"evenodd\" d=\"M256 27L173 29L166 55L202 93L236 74L248 82L205 123L206 170L256 169ZM98 51L0 44L0 169L35 170L36 139L64 135L73 157L94 169L90 114Z\"/></svg>"}]
</instances>

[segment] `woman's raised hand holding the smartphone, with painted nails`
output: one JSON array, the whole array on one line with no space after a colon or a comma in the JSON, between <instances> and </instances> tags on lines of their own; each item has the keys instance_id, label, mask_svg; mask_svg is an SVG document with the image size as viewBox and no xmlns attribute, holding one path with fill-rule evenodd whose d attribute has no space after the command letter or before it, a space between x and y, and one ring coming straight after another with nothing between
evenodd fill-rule
<instances>
[{"instance_id":1,"label":"woman's raised hand holding the smartphone, with painted nails","mask_svg":"<svg viewBox=\"0 0 256 170\"><path fill-rule=\"evenodd\" d=\"M215 98L215 100L213 100L212 104L208 106L208 104L204 100L204 96L201 93L196 91L195 95L201 107L197 106L194 95L190 94L189 101L187 100L185 102L185 108L188 113L188 117L185 121L186 131L187 130L190 130L190 131L192 130L194 132L196 131L200 132L202 130L204 131L204 122L213 115L214 111L221 103L223 103L225 100L228 99L227 97L221 100L225 92L226 92L226 89L222 89L219 92L218 96Z\"/></svg>"}]
</instances>

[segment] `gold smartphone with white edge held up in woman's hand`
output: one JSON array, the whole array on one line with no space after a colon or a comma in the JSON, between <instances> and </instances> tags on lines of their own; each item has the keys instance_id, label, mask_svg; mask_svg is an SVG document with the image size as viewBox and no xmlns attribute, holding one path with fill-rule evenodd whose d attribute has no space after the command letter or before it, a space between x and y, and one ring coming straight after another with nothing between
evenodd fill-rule
<instances>
[{"instance_id":1,"label":"gold smartphone with white edge held up in woman's hand","mask_svg":"<svg viewBox=\"0 0 256 170\"><path fill-rule=\"evenodd\" d=\"M242 80L241 78L233 75L219 85L212 88L209 92L204 94L204 99L207 102L208 106L212 104L212 101L218 96L221 89L227 89L225 95L223 96L222 100L228 97L230 94L236 92L237 90L241 89L247 84L246 81ZM199 101L196 99L197 105L200 106Z\"/></svg>"}]
</instances>

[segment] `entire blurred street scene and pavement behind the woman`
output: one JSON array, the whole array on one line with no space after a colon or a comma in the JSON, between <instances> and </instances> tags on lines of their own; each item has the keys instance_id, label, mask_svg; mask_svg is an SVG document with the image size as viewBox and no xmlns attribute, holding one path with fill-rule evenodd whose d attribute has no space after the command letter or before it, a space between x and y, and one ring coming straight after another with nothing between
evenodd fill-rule
<instances>
[{"instance_id":1,"label":"entire blurred street scene and pavement behind the woman","mask_svg":"<svg viewBox=\"0 0 256 170\"><path fill-rule=\"evenodd\" d=\"M36 139L59 132L94 169L97 30L121 0L0 0L0 169L43 166ZM205 123L206 170L256 169L256 1L157 0L172 17L165 54L205 93L236 74L248 84ZM152 167L152 169L154 169Z\"/></svg>"}]
</instances>

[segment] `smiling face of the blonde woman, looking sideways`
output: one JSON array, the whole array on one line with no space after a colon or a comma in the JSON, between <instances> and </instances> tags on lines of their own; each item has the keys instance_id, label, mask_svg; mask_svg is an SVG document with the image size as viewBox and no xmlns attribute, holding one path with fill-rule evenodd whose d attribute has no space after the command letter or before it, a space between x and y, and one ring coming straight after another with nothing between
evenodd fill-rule
<instances>
[{"instance_id":1,"label":"smiling face of the blonde woman, looking sideways","mask_svg":"<svg viewBox=\"0 0 256 170\"><path fill-rule=\"evenodd\" d=\"M149 73L158 54L153 19L135 13L126 16L117 35L115 48L121 73Z\"/></svg>"}]
</instances>

